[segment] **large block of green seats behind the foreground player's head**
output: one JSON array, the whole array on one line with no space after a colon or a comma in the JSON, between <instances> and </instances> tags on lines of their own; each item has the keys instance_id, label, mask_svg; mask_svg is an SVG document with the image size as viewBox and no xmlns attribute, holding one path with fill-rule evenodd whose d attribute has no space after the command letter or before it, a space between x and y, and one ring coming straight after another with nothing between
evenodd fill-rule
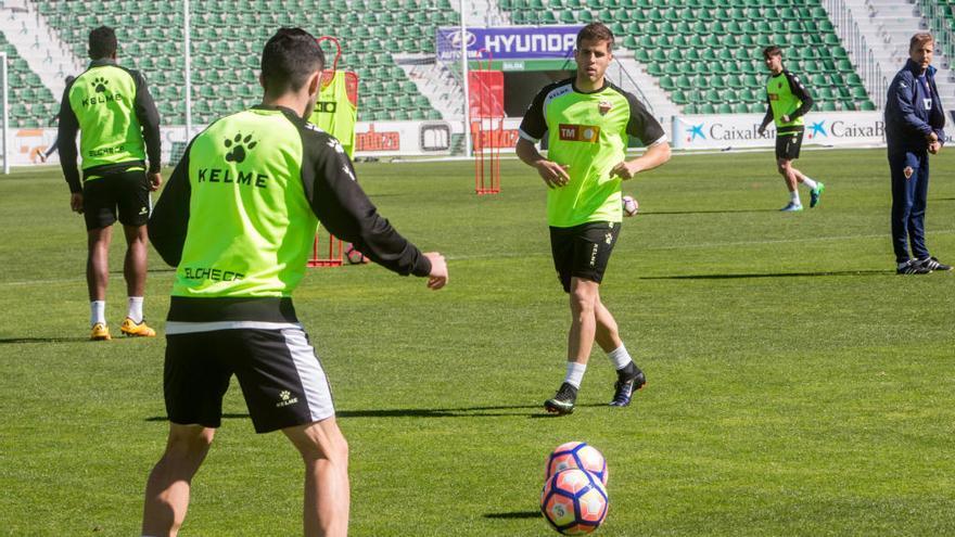
<instances>
[{"instance_id":1,"label":"large block of green seats behind the foreground player's head","mask_svg":"<svg viewBox=\"0 0 955 537\"><path fill-rule=\"evenodd\" d=\"M181 3L76 0L36 5L79 57L87 56L90 29L116 28L120 62L147 76L163 123L186 123ZM448 0L209 0L191 5L195 123L258 102L253 69L265 41L283 25L303 25L317 35L348 28L335 36L343 48L339 69L359 77L359 120L441 117L393 54L433 53L426 28L457 21Z\"/></svg>"}]
</instances>

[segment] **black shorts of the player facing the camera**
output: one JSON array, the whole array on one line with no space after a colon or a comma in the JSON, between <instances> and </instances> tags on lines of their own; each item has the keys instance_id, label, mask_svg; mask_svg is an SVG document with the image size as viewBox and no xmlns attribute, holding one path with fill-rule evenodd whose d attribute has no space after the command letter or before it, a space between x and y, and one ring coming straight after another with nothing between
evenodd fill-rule
<instances>
[{"instance_id":1,"label":"black shorts of the player facing the camera","mask_svg":"<svg viewBox=\"0 0 955 537\"><path fill-rule=\"evenodd\" d=\"M600 283L616 238L620 222L588 222L572 228L550 228L553 268L566 293L571 278Z\"/></svg>"}]
</instances>

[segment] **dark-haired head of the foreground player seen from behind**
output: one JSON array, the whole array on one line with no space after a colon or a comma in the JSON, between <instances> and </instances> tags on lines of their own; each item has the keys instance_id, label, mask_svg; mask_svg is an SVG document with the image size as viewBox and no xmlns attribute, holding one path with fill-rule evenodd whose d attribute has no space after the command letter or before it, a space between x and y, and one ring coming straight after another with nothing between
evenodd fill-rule
<instances>
[{"instance_id":1,"label":"dark-haired head of the foreground player seen from behind","mask_svg":"<svg viewBox=\"0 0 955 537\"><path fill-rule=\"evenodd\" d=\"M324 52L302 28L279 28L262 51L262 78L270 95L298 91L309 75L323 68Z\"/></svg>"}]
</instances>

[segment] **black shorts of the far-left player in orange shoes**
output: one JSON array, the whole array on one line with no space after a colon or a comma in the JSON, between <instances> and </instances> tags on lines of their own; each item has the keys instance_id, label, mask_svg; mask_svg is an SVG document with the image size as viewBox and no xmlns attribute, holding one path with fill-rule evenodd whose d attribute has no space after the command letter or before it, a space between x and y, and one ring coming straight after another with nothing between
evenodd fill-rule
<instances>
[{"instance_id":1,"label":"black shorts of the far-left player in orange shoes","mask_svg":"<svg viewBox=\"0 0 955 537\"><path fill-rule=\"evenodd\" d=\"M82 215L87 231L112 226L118 209L119 223L144 226L153 204L149 180L142 169L91 175L82 183Z\"/></svg>"}]
</instances>

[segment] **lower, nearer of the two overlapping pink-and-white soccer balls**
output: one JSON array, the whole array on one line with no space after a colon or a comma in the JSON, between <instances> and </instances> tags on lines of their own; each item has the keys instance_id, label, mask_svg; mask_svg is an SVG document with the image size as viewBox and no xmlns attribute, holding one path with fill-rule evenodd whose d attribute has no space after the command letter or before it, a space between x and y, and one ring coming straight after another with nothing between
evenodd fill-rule
<instances>
[{"instance_id":1,"label":"lower, nearer of the two overlapping pink-and-white soccer balls","mask_svg":"<svg viewBox=\"0 0 955 537\"><path fill-rule=\"evenodd\" d=\"M561 470L544 482L540 512L547 523L563 535L589 534L607 517L607 489L590 472Z\"/></svg>"}]
</instances>

